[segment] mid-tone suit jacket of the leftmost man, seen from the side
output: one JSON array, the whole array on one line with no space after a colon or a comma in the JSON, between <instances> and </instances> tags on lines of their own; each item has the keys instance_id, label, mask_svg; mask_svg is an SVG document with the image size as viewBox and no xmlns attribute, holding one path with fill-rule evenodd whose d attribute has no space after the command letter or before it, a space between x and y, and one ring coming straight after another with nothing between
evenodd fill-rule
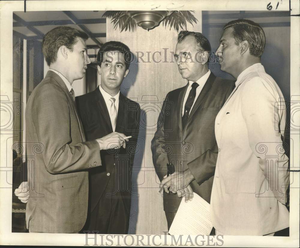
<instances>
[{"instance_id":1,"label":"mid-tone suit jacket of the leftmost man, seen from the side","mask_svg":"<svg viewBox=\"0 0 300 248\"><path fill-rule=\"evenodd\" d=\"M101 165L97 141L85 141L76 107L64 81L48 71L26 106L26 153L30 231L73 233L85 223L87 168ZM74 218L76 216L76 218Z\"/></svg>"}]
</instances>

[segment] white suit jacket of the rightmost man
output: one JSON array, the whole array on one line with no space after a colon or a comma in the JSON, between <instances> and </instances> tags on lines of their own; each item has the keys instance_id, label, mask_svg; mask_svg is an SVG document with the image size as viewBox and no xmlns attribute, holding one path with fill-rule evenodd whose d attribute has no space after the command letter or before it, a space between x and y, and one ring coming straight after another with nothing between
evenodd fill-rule
<instances>
[{"instance_id":1,"label":"white suit jacket of the rightmost man","mask_svg":"<svg viewBox=\"0 0 300 248\"><path fill-rule=\"evenodd\" d=\"M288 158L281 140L285 102L260 64L244 70L217 115L220 149L211 192L214 227L231 235L264 235L289 226L284 205Z\"/></svg>"}]
</instances>

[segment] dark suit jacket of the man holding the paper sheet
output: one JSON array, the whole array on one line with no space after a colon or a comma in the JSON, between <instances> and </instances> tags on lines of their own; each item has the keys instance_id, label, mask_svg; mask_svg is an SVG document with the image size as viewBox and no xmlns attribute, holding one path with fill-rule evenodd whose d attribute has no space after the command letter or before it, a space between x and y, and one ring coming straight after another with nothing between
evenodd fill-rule
<instances>
[{"instance_id":1,"label":"dark suit jacket of the man holding the paper sheet","mask_svg":"<svg viewBox=\"0 0 300 248\"><path fill-rule=\"evenodd\" d=\"M167 94L152 140L152 157L159 180L167 174L167 163L175 171L190 169L195 180L190 185L195 193L210 202L218 147L214 120L233 89L233 81L211 73L182 128L182 105L187 86ZM181 198L164 192L164 210L177 212Z\"/></svg>"}]
</instances>

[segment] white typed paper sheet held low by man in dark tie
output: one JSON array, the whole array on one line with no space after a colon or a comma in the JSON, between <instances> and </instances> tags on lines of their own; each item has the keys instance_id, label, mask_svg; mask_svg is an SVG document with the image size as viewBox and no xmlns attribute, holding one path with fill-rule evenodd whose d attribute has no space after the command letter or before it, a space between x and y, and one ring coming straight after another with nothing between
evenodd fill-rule
<instances>
[{"instance_id":1,"label":"white typed paper sheet held low by man in dark tie","mask_svg":"<svg viewBox=\"0 0 300 248\"><path fill-rule=\"evenodd\" d=\"M202 197L193 193L192 201L185 203L184 197L170 227L172 235L209 235L213 227L210 219L210 205Z\"/></svg>"}]
</instances>

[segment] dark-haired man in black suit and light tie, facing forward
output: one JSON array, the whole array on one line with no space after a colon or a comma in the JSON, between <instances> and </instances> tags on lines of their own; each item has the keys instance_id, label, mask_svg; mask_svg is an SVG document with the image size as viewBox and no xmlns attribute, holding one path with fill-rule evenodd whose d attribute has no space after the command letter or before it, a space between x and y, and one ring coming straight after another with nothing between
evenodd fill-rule
<instances>
[{"instance_id":1,"label":"dark-haired man in black suit and light tie, facing forward","mask_svg":"<svg viewBox=\"0 0 300 248\"><path fill-rule=\"evenodd\" d=\"M110 41L98 52L101 84L94 91L76 97L87 140L113 132L132 136L126 148L101 151L101 168L89 171L89 212L82 231L127 234L131 205L131 170L139 132L140 106L122 93L120 86L129 72L129 48Z\"/></svg>"}]
</instances>

